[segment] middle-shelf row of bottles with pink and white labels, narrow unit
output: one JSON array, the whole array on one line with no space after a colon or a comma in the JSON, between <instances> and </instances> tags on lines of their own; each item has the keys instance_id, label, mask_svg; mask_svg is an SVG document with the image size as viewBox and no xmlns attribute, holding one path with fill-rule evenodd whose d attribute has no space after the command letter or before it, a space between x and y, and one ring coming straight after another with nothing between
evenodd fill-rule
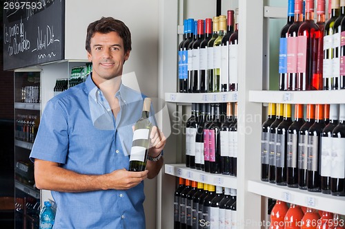
<instances>
[{"instance_id":1,"label":"middle-shelf row of bottles with pink and white labels, narrow unit","mask_svg":"<svg viewBox=\"0 0 345 229\"><path fill-rule=\"evenodd\" d=\"M237 102L192 104L186 122L186 166L237 176Z\"/></svg>"}]
</instances>

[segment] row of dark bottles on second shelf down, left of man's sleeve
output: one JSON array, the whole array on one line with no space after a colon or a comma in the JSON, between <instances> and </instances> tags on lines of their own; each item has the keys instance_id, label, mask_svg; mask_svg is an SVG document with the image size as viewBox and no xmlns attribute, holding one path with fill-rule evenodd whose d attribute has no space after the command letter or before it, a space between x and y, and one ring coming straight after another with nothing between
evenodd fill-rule
<instances>
[{"instance_id":1,"label":"row of dark bottles on second shelf down, left of man's sleeve","mask_svg":"<svg viewBox=\"0 0 345 229\"><path fill-rule=\"evenodd\" d=\"M14 136L17 140L34 142L39 128L38 116L18 114L16 118Z\"/></svg>"}]
</instances>

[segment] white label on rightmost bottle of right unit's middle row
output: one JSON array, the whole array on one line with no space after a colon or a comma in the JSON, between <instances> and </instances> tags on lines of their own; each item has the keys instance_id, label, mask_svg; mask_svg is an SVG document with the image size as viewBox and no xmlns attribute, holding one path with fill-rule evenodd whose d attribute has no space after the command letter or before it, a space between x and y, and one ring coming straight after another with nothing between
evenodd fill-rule
<instances>
[{"instance_id":1,"label":"white label on rightmost bottle of right unit's middle row","mask_svg":"<svg viewBox=\"0 0 345 229\"><path fill-rule=\"evenodd\" d=\"M345 138L332 140L332 173L331 177L345 178Z\"/></svg>"}]
</instances>

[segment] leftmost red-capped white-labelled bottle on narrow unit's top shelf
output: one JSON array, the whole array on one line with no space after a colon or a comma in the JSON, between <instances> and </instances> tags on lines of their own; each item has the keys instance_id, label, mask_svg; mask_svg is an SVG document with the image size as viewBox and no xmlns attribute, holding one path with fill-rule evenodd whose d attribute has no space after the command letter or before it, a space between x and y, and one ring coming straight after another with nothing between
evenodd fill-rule
<instances>
[{"instance_id":1,"label":"leftmost red-capped white-labelled bottle on narrow unit's top shelf","mask_svg":"<svg viewBox=\"0 0 345 229\"><path fill-rule=\"evenodd\" d=\"M192 54L193 54L193 80L192 80L192 89L193 93L199 93L201 91L200 83L200 45L204 41L204 20L197 20L197 39L193 42L192 45Z\"/></svg>"}]
</instances>

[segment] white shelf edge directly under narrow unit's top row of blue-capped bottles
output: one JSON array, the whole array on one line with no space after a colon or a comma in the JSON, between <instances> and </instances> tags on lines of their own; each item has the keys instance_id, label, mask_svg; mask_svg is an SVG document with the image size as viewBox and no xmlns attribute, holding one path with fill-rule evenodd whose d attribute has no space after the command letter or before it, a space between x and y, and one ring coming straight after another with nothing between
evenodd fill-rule
<instances>
[{"instance_id":1,"label":"white shelf edge directly under narrow unit's top row of blue-capped bottles","mask_svg":"<svg viewBox=\"0 0 345 229\"><path fill-rule=\"evenodd\" d=\"M166 93L166 102L237 102L237 93L238 91L213 93Z\"/></svg>"}]
</instances>

